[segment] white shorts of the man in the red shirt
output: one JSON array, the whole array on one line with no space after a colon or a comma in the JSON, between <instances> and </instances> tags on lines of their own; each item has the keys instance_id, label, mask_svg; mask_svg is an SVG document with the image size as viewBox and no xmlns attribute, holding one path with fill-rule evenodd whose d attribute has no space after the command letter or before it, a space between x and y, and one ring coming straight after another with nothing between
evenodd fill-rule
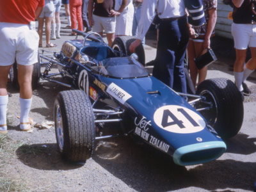
<instances>
[{"instance_id":1,"label":"white shorts of the man in the red shirt","mask_svg":"<svg viewBox=\"0 0 256 192\"><path fill-rule=\"evenodd\" d=\"M38 62L39 36L27 24L0 22L0 66L33 65ZM4 46L3 46L4 45Z\"/></svg>"}]
</instances>

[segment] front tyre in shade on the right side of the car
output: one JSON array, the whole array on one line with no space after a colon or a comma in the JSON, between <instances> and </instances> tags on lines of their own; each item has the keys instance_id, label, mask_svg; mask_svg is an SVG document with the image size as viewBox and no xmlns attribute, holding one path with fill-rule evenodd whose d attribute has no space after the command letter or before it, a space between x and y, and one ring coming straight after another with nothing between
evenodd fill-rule
<instances>
[{"instance_id":1,"label":"front tyre in shade on the right side of the car","mask_svg":"<svg viewBox=\"0 0 256 192\"><path fill-rule=\"evenodd\" d=\"M243 123L244 108L241 93L236 85L225 78L207 79L199 84L196 95L205 97L196 109L211 109L200 111L209 125L223 139L232 138L240 131Z\"/></svg>"}]
</instances>

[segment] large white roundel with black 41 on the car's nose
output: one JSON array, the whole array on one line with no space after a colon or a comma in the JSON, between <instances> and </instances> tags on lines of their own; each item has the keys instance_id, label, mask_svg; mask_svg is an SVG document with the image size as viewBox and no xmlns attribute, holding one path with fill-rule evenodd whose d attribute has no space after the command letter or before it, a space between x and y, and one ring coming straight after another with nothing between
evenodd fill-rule
<instances>
[{"instance_id":1,"label":"large white roundel with black 41 on the car's nose","mask_svg":"<svg viewBox=\"0 0 256 192\"><path fill-rule=\"evenodd\" d=\"M174 105L157 109L154 121L161 129L176 133L199 132L205 127L204 119L195 111Z\"/></svg>"}]
</instances>

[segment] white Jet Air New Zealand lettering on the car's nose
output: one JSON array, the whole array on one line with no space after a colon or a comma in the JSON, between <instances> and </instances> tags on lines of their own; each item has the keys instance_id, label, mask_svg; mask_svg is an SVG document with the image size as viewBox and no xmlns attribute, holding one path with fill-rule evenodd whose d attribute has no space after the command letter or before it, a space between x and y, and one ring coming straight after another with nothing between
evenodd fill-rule
<instances>
[{"instance_id":1,"label":"white Jet Air New Zealand lettering on the car's nose","mask_svg":"<svg viewBox=\"0 0 256 192\"><path fill-rule=\"evenodd\" d=\"M163 141L157 139L156 137L150 135L147 131L151 126L150 120L147 121L145 116L142 116L140 120L136 117L134 119L134 124L136 125L134 133L143 138L143 140L147 141L148 143L154 145L154 147L163 150L163 152L168 152L170 145L164 143Z\"/></svg>"}]
</instances>

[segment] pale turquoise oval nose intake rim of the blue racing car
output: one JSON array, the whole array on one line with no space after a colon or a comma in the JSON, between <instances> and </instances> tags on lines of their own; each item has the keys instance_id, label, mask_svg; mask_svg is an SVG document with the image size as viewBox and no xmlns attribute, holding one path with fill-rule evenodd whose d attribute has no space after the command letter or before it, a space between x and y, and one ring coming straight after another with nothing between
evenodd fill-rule
<instances>
[{"instance_id":1,"label":"pale turquoise oval nose intake rim of the blue racing car","mask_svg":"<svg viewBox=\"0 0 256 192\"><path fill-rule=\"evenodd\" d=\"M207 163L220 157L227 149L223 141L209 141L177 148L173 161L181 166Z\"/></svg>"}]
</instances>

